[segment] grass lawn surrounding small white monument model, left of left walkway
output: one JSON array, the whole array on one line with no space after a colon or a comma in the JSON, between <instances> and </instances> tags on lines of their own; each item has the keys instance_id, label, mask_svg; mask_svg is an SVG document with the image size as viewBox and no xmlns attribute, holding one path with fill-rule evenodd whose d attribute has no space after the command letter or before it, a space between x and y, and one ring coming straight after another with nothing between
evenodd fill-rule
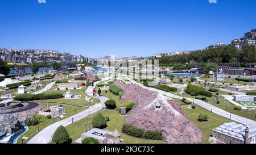
<instances>
[{"instance_id":1,"label":"grass lawn surrounding small white monument model, left of left walkway","mask_svg":"<svg viewBox=\"0 0 256 155\"><path fill-rule=\"evenodd\" d=\"M86 88L82 88L82 89L76 89L76 90L48 90L45 93L63 93L63 96L65 95L65 93L67 91L71 91L71 93L75 94L75 95L82 95L82 97L80 99L64 99L64 98L60 98L60 99L46 99L46 100L37 100L38 102L60 102L60 103L68 103L68 104L75 104L78 106L93 106L93 104L98 103L98 100L93 98L93 102L89 103L84 101L85 96L89 97L88 95L85 95L85 90Z\"/></svg>"}]
</instances>

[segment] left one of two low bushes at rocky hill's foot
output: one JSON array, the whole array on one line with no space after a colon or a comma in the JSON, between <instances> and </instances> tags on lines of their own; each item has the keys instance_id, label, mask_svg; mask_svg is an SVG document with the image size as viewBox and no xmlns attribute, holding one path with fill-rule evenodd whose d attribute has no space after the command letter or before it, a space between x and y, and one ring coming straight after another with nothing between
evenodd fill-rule
<instances>
[{"instance_id":1,"label":"left one of two low bushes at rocky hill's foot","mask_svg":"<svg viewBox=\"0 0 256 155\"><path fill-rule=\"evenodd\" d=\"M143 130L137 127L133 127L131 125L123 125L122 126L122 132L126 133L129 136L142 138L144 133Z\"/></svg>"}]
</instances>

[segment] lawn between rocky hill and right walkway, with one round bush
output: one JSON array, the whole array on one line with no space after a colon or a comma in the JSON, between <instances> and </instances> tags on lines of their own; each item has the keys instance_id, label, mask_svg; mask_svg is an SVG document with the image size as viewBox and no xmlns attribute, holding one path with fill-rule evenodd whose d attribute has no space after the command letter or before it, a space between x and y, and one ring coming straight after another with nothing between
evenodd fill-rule
<instances>
[{"instance_id":1,"label":"lawn between rocky hill and right walkway, with one round bush","mask_svg":"<svg viewBox=\"0 0 256 155\"><path fill-rule=\"evenodd\" d=\"M182 103L180 99L175 99L177 102ZM205 110L204 108L197 106L195 109L189 109L187 108L187 105L181 105L181 108L184 110L185 114L187 115L188 119L191 120L203 133L202 141L201 143L209 143L209 137L212 135L212 129L218 127L219 125L226 123L226 122L233 122L232 120L229 120L227 118L224 118L222 116L216 115L208 110ZM201 114L207 114L209 116L209 119L207 122L200 122L198 119L198 116Z\"/></svg>"}]
</instances>

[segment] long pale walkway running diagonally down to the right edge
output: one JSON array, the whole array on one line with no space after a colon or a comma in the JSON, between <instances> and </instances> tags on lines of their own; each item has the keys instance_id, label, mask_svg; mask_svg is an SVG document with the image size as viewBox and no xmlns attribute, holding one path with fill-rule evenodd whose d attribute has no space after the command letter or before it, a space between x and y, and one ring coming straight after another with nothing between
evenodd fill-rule
<instances>
[{"instance_id":1,"label":"long pale walkway running diagonally down to the right edge","mask_svg":"<svg viewBox=\"0 0 256 155\"><path fill-rule=\"evenodd\" d=\"M138 82L134 81L133 79L129 79L129 80L130 80L131 83L137 83L138 85L141 85L145 89L148 89L148 90L151 90L151 91L157 91L158 93L166 95L167 97L177 98L177 99L182 99L183 98L183 97L177 96L175 94L171 94L171 93L167 93L167 92L162 91L162 90L154 89L152 87L146 87L146 86L142 85L141 83L138 83ZM217 114L217 115L223 116L225 118L234 120L234 121L239 122L241 124L247 124L247 125L256 127L256 121L254 121L254 120L243 118L241 116L231 114L230 112L222 110L221 108L215 107L212 104L204 102L203 100L192 99L192 98L186 98L186 99L191 100L191 102L197 104L200 107L205 108L206 110L209 110L209 111L213 112L214 114Z\"/></svg>"}]
</instances>

